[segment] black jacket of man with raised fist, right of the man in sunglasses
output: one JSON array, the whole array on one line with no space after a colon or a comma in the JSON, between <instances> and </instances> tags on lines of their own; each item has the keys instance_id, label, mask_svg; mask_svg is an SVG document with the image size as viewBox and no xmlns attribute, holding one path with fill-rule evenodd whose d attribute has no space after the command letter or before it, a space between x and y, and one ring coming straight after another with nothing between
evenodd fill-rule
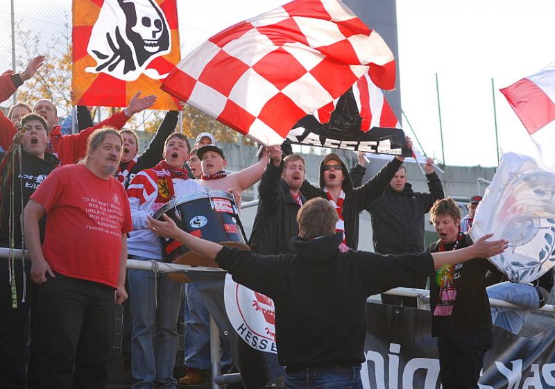
<instances>
[{"instance_id":1,"label":"black jacket of man with raised fist, right of the man in sunglasses","mask_svg":"<svg viewBox=\"0 0 555 389\"><path fill-rule=\"evenodd\" d=\"M375 200L368 212L372 216L372 237L375 252L403 254L424 251L424 215L443 198L443 187L436 173L426 175L430 193L415 193L412 185L404 184L397 193L387 185L384 194Z\"/></svg>"}]
</instances>

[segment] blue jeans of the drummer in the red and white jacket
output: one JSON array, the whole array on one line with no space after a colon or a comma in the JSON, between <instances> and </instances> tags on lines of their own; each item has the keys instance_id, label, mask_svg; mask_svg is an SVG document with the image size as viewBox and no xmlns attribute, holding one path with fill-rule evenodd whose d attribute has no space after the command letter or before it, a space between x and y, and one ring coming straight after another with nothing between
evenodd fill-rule
<instances>
[{"instance_id":1,"label":"blue jeans of the drummer in the red and white jacket","mask_svg":"<svg viewBox=\"0 0 555 389\"><path fill-rule=\"evenodd\" d=\"M179 341L176 324L183 284L171 281L165 274L144 270L129 270L128 277L133 295L133 388L176 388L173 365Z\"/></svg>"}]
</instances>

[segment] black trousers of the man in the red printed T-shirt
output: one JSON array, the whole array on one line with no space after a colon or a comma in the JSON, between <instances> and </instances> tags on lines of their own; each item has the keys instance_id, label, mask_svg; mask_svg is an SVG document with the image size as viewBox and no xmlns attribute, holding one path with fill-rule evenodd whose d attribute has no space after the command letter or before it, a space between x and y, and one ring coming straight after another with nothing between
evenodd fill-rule
<instances>
[{"instance_id":1,"label":"black trousers of the man in the red printed T-shirt","mask_svg":"<svg viewBox=\"0 0 555 389\"><path fill-rule=\"evenodd\" d=\"M104 388L114 288L56 274L39 286L42 389Z\"/></svg>"}]
</instances>

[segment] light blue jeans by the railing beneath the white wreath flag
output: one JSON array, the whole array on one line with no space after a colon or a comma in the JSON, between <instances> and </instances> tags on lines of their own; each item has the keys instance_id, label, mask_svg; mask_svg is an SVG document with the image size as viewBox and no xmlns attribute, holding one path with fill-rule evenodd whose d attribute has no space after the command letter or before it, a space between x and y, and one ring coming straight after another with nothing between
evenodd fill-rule
<instances>
[{"instance_id":1,"label":"light blue jeans by the railing beneath the white wreath flag","mask_svg":"<svg viewBox=\"0 0 555 389\"><path fill-rule=\"evenodd\" d=\"M540 297L536 288L531 284L513 284L502 282L486 288L488 297L512 302L527 309L537 309L540 306ZM501 306L491 307L491 321L497 327L502 327L518 335L528 318L530 311L524 309L510 309Z\"/></svg>"}]
</instances>

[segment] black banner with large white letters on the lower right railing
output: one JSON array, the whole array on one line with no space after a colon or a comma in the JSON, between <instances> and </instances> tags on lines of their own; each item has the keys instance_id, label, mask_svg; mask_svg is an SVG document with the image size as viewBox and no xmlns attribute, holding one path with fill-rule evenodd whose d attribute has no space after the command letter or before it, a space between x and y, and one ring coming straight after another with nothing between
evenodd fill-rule
<instances>
[{"instance_id":1,"label":"black banner with large white letters on the lower right railing","mask_svg":"<svg viewBox=\"0 0 555 389\"><path fill-rule=\"evenodd\" d=\"M429 311L368 303L364 389L439 389ZM533 337L493 329L480 389L554 388L555 327Z\"/></svg>"}]
</instances>

